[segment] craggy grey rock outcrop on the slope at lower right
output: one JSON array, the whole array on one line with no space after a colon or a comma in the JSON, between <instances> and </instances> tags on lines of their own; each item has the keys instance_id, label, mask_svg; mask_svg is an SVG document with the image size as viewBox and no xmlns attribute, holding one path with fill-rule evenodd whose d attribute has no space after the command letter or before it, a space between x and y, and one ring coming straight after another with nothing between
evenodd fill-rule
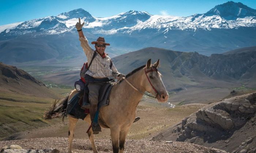
<instances>
[{"instance_id":1,"label":"craggy grey rock outcrop on the slope at lower right","mask_svg":"<svg viewBox=\"0 0 256 153\"><path fill-rule=\"evenodd\" d=\"M193 137L204 137L208 141L217 141L240 129L247 121L255 117L256 93L246 94L212 103L181 122L177 141L194 142ZM213 135L214 138L207 139ZM250 143L248 139L246 143Z\"/></svg>"}]
</instances>

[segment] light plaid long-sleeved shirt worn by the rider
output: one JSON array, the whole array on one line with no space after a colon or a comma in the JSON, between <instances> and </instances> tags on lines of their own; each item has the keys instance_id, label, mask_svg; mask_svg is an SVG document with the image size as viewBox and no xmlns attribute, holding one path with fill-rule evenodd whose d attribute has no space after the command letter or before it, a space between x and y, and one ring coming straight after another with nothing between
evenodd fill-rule
<instances>
[{"instance_id":1,"label":"light plaid long-sleeved shirt worn by the rider","mask_svg":"<svg viewBox=\"0 0 256 153\"><path fill-rule=\"evenodd\" d=\"M86 38L80 37L81 47L87 57L88 65L93 58L94 50L90 47L88 40ZM106 55L105 58L102 58L99 53L96 53L89 70L87 70L86 74L93 76L94 78L117 78L117 75L120 74L114 64L110 69L110 57Z\"/></svg>"}]
</instances>

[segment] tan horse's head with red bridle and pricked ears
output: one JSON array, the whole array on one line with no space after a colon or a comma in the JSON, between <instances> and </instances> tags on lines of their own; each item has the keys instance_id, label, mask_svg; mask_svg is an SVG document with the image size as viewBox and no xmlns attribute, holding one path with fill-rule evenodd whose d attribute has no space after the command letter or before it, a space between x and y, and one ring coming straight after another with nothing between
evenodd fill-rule
<instances>
[{"instance_id":1,"label":"tan horse's head with red bridle and pricked ears","mask_svg":"<svg viewBox=\"0 0 256 153\"><path fill-rule=\"evenodd\" d=\"M169 95L163 85L161 74L158 72L159 59L154 64L151 64L151 59L147 61L144 68L145 75L143 75L143 83L146 91L155 95L158 102L166 102Z\"/></svg>"}]
</instances>

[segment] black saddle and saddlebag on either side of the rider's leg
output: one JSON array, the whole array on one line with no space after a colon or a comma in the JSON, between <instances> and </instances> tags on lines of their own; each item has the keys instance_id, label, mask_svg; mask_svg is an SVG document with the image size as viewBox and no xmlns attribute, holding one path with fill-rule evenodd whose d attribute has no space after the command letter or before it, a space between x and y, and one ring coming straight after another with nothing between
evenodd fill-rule
<instances>
[{"instance_id":1,"label":"black saddle and saddlebag on either side of the rider's leg","mask_svg":"<svg viewBox=\"0 0 256 153\"><path fill-rule=\"evenodd\" d=\"M103 85L99 90L98 109L109 105L109 95L113 86L113 83L106 83L106 85ZM89 114L89 109L84 110L81 108L83 98L87 98L86 100L89 102L88 93L84 92L84 90L81 90L79 93L74 95L74 97L68 102L66 111L68 115L76 119L84 119L86 115Z\"/></svg>"}]
</instances>

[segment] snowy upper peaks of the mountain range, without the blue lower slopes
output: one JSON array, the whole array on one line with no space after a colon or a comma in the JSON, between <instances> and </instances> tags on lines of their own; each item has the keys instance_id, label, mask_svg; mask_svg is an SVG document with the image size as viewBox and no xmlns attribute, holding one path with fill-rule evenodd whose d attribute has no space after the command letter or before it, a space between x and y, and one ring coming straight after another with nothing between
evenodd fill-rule
<instances>
[{"instance_id":1,"label":"snowy upper peaks of the mountain range, without the blue lower slopes","mask_svg":"<svg viewBox=\"0 0 256 153\"><path fill-rule=\"evenodd\" d=\"M242 3L227 3L217 5L204 14L188 17L150 15L148 12L129 11L111 17L93 17L82 8L57 16L34 19L17 24L16 27L0 26L1 36L22 35L34 32L59 34L75 28L78 18L85 22L84 28L92 29L93 33L112 35L130 33L142 29L166 28L178 30L198 30L212 28L256 27L256 10ZM165 31L165 32L166 32Z\"/></svg>"}]
</instances>

